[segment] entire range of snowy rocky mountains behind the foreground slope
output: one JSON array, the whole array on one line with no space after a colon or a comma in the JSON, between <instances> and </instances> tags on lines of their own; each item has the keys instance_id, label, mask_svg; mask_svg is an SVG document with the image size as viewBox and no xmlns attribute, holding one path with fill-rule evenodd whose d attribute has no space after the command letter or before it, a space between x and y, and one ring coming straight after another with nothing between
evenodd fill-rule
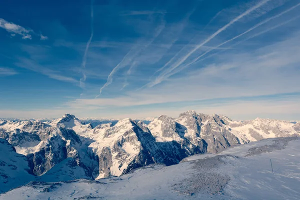
<instances>
[{"instance_id":1,"label":"entire range of snowy rocky mountains behind the foreground slope","mask_svg":"<svg viewBox=\"0 0 300 200\"><path fill-rule=\"evenodd\" d=\"M299 135L299 122L232 121L193 110L178 118L161 115L148 124L126 118L94 126L72 114L47 122L0 120L0 138L25 156L29 172L40 181L119 176L149 164L172 165L198 153Z\"/></svg>"}]
</instances>

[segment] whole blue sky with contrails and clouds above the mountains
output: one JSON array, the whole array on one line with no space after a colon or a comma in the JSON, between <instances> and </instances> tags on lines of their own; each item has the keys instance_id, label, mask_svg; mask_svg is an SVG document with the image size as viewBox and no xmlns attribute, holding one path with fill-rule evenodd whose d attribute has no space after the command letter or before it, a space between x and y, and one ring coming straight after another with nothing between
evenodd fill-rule
<instances>
[{"instance_id":1,"label":"whole blue sky with contrails and clouds above the mountains","mask_svg":"<svg viewBox=\"0 0 300 200\"><path fill-rule=\"evenodd\" d=\"M300 0L4 0L0 117L300 119Z\"/></svg>"}]
</instances>

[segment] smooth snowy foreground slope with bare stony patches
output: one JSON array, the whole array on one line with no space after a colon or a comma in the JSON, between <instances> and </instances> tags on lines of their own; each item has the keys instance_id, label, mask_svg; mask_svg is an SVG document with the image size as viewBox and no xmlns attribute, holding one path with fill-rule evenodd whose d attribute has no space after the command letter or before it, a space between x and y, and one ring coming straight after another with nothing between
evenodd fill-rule
<instances>
[{"instance_id":1,"label":"smooth snowy foreground slope with bare stony patches","mask_svg":"<svg viewBox=\"0 0 300 200\"><path fill-rule=\"evenodd\" d=\"M299 146L299 137L264 139L120 177L31 182L0 199L300 199Z\"/></svg>"}]
</instances>

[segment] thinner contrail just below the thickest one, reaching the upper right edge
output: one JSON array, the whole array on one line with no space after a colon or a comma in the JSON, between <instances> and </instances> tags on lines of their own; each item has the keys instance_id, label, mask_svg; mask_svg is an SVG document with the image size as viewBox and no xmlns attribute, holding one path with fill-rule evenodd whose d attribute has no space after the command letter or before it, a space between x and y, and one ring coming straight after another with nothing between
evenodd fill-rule
<instances>
[{"instance_id":1,"label":"thinner contrail just below the thickest one, reaching the upper right edge","mask_svg":"<svg viewBox=\"0 0 300 200\"><path fill-rule=\"evenodd\" d=\"M234 40L234 39L236 39L236 38L238 38L238 37L240 37L240 36L242 36L242 35L244 35L244 34L250 32L251 30L257 28L258 26L260 26L260 25L262 25L262 24L264 24L264 23L266 23L266 22L268 22L268 21L270 21L270 20L272 20L272 19L274 19L274 18L277 18L277 17L281 16L282 14L284 14L284 13L286 13L286 12L288 12L288 11L294 9L294 8L296 8L296 7L299 6L299 5L300 5L300 3L298 3L298 4L294 5L294 6L288 8L288 9L282 11L282 12L280 12L279 14L276 14L276 15L274 15L274 16L272 16L272 17L266 18L266 19L264 19L263 21L261 21L261 22L255 24L255 25L252 26L251 28L247 29L247 30L244 31L243 33L240 33L239 35L236 35L236 36L232 37L231 39L228 39L228 40L226 40L226 41L224 41L224 42L218 44L217 46L212 47L211 49L206 50L204 53L202 53L202 54L199 55L198 57L194 58L191 62L189 62L189 63L187 63L186 65L184 65L182 68L186 68L187 66L189 66L189 65L193 64L194 62L196 62L200 57L206 55L208 52L210 52L210 51L212 51L212 50L218 48L219 46L221 46L221 45L223 45L223 44L225 44L225 43L227 43L227 42L229 42L229 41L232 41L232 40ZM279 24L278 24L278 25L279 25ZM267 30L267 31L268 31L268 30ZM249 38L247 38L247 40L248 40L248 39L249 39ZM174 74L174 73L171 73L171 74Z\"/></svg>"}]
</instances>

